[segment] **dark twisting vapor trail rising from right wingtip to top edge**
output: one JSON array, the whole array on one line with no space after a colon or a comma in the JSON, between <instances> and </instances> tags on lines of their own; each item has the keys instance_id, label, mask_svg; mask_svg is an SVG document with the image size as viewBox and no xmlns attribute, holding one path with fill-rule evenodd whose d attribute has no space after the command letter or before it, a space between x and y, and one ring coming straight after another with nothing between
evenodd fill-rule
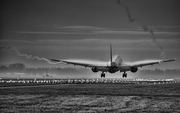
<instances>
[{"instance_id":1,"label":"dark twisting vapor trail rising from right wingtip to top edge","mask_svg":"<svg viewBox=\"0 0 180 113\"><path fill-rule=\"evenodd\" d=\"M123 8L126 10L126 13L127 13L127 16L128 16L128 19L130 22L134 22L136 21L138 24L140 24L142 26L142 29L145 31L145 32L149 32L151 33L151 36L152 36L152 41L153 43L155 43L157 45L157 47L161 50L161 57L164 59L165 58L165 52L164 52L164 49L162 48L162 46L157 42L156 40L156 37L154 35L154 31L152 29L149 29L146 25L144 25L141 21L140 18L132 18L131 16L131 12L128 8L127 5L123 4L120 0L117 0L117 3L121 6L123 6Z\"/></svg>"}]
</instances>

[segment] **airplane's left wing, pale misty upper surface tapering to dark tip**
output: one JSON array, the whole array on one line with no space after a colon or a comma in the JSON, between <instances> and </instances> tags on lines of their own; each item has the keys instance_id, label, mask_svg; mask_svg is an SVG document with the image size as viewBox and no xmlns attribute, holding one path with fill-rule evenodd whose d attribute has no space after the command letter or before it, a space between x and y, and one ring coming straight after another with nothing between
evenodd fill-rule
<instances>
[{"instance_id":1,"label":"airplane's left wing, pale misty upper surface tapering to dark tip","mask_svg":"<svg viewBox=\"0 0 180 113\"><path fill-rule=\"evenodd\" d=\"M107 66L107 62L101 61L90 61L90 60L61 60L61 59L51 59L53 62L72 64L84 67L93 67L93 66Z\"/></svg>"}]
</instances>

